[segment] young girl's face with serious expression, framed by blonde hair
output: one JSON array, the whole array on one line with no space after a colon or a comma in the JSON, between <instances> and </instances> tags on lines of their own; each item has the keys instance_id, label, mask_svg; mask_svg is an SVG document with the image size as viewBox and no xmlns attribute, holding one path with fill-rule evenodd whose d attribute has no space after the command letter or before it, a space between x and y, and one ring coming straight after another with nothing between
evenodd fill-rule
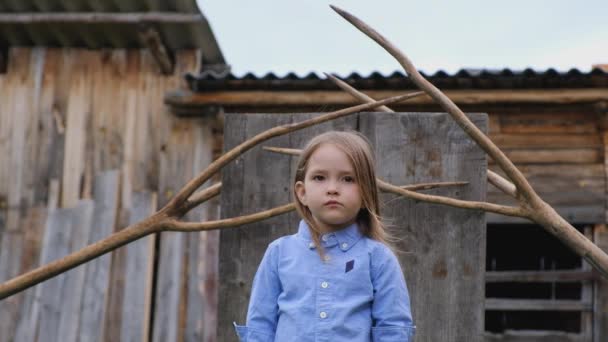
<instances>
[{"instance_id":1,"label":"young girl's face with serious expression, framed by blonde hair","mask_svg":"<svg viewBox=\"0 0 608 342\"><path fill-rule=\"evenodd\" d=\"M355 170L348 156L333 144L322 144L312 153L304 181L296 182L295 190L325 232L355 222L362 206Z\"/></svg>"}]
</instances>

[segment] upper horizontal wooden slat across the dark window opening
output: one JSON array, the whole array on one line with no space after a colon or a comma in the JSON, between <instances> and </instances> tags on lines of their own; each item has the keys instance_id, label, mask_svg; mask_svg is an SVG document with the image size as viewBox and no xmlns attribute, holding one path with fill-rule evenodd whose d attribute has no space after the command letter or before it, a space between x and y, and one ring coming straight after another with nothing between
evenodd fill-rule
<instances>
[{"instance_id":1,"label":"upper horizontal wooden slat across the dark window opening","mask_svg":"<svg viewBox=\"0 0 608 342\"><path fill-rule=\"evenodd\" d=\"M562 283L595 279L597 279L597 276L591 270L486 272L486 283Z\"/></svg>"}]
</instances>

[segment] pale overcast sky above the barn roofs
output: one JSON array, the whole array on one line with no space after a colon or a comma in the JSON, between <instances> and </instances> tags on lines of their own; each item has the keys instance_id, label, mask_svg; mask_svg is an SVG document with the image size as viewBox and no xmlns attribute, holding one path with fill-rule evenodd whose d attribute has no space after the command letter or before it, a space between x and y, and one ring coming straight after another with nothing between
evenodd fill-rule
<instances>
[{"instance_id":1,"label":"pale overcast sky above the barn roofs","mask_svg":"<svg viewBox=\"0 0 608 342\"><path fill-rule=\"evenodd\" d=\"M197 0L236 75L401 70L329 8L364 20L428 73L608 63L608 0Z\"/></svg>"}]
</instances>

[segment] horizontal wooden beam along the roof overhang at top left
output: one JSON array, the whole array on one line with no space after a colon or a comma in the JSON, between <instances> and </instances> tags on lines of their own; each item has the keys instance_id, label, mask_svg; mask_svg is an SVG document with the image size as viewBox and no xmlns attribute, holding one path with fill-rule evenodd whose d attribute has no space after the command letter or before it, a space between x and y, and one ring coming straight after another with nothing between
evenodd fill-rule
<instances>
[{"instance_id":1,"label":"horizontal wooden beam along the roof overhang at top left","mask_svg":"<svg viewBox=\"0 0 608 342\"><path fill-rule=\"evenodd\" d=\"M139 24L170 23L191 24L204 21L202 14L176 12L56 12L56 13L2 13L0 24Z\"/></svg>"}]
</instances>

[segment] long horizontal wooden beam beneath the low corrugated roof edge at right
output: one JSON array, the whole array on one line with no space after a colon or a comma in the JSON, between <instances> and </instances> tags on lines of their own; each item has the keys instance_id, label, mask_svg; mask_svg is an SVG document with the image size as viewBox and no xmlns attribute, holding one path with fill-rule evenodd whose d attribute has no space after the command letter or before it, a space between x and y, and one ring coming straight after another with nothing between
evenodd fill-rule
<instances>
[{"instance_id":1,"label":"long horizontal wooden beam beneath the low corrugated roof edge at right","mask_svg":"<svg viewBox=\"0 0 608 342\"><path fill-rule=\"evenodd\" d=\"M409 90L413 91L413 90ZM408 90L380 90L366 92L375 99L403 94ZM608 89L526 89L526 90L446 90L457 104L537 103L575 104L608 101ZM172 106L324 106L354 105L358 101L343 91L209 91L177 90L165 95L165 103ZM408 100L408 105L434 104L427 95Z\"/></svg>"}]
</instances>

